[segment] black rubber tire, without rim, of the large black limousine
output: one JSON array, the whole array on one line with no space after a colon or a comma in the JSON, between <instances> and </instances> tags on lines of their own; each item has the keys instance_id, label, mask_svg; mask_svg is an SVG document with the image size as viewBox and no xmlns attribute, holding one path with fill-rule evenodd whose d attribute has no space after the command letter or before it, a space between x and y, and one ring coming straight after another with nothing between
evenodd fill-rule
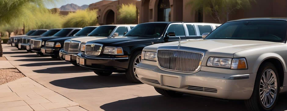
<instances>
[{"instance_id":1,"label":"black rubber tire, without rim, of the large black limousine","mask_svg":"<svg viewBox=\"0 0 287 111\"><path fill-rule=\"evenodd\" d=\"M136 75L134 73L134 62L139 55L141 55L140 51L136 51L132 54L131 59L129 60L129 68L125 73L127 79L134 83L141 83L140 80L136 78Z\"/></svg>"}]
</instances>

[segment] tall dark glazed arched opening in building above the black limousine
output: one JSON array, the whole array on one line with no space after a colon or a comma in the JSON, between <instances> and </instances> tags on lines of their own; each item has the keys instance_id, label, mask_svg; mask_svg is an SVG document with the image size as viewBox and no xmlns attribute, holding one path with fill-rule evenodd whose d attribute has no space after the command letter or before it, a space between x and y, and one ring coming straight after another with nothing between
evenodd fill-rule
<instances>
[{"instance_id":1,"label":"tall dark glazed arched opening in building above the black limousine","mask_svg":"<svg viewBox=\"0 0 287 111\"><path fill-rule=\"evenodd\" d=\"M158 1L158 22L169 22L170 21L170 6L169 0Z\"/></svg>"}]
</instances>

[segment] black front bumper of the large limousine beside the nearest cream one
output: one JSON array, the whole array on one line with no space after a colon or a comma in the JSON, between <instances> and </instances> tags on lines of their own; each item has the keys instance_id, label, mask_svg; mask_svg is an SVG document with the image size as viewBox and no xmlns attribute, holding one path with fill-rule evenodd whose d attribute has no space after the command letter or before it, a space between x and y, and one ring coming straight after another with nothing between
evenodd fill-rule
<instances>
[{"instance_id":1,"label":"black front bumper of the large limousine beside the nearest cream one","mask_svg":"<svg viewBox=\"0 0 287 111\"><path fill-rule=\"evenodd\" d=\"M79 63L79 59L84 59L84 64ZM79 66L95 70L95 71L111 71L111 72L126 72L129 65L129 58L112 58L112 57L88 57L83 52L77 55L77 64Z\"/></svg>"}]
</instances>

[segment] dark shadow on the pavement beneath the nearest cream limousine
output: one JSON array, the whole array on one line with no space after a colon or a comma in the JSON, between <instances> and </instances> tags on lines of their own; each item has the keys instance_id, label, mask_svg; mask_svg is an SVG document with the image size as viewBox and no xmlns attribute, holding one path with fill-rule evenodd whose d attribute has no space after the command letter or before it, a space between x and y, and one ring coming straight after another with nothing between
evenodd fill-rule
<instances>
[{"instance_id":1,"label":"dark shadow on the pavement beneath the nearest cream limousine","mask_svg":"<svg viewBox=\"0 0 287 111\"><path fill-rule=\"evenodd\" d=\"M281 96L282 97L282 96ZM273 111L284 111L287 109L286 97L278 101ZM105 111L246 111L243 100L209 99L189 94L180 98L169 98L162 95L136 97L132 99L118 100L100 106Z\"/></svg>"}]
</instances>

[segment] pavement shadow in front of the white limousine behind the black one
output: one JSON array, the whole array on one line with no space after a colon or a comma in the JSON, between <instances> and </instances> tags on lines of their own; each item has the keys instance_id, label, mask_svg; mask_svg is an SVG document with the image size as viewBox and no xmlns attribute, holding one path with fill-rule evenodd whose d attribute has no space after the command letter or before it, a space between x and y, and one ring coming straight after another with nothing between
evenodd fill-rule
<instances>
[{"instance_id":1,"label":"pavement shadow in front of the white limousine behind the black one","mask_svg":"<svg viewBox=\"0 0 287 111\"><path fill-rule=\"evenodd\" d=\"M47 69L33 70L33 72L49 73L49 74L65 74L65 73L91 72L91 70L84 69L78 66L60 66L60 67L50 67Z\"/></svg>"}]
</instances>

